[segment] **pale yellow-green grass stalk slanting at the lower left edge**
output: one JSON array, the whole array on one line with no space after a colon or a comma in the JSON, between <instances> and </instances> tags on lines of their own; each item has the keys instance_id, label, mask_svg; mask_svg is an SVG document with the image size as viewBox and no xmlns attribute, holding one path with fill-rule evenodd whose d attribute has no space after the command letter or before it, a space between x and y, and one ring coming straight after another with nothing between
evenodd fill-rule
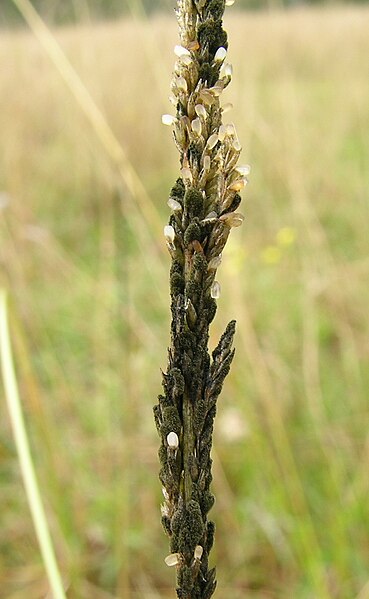
<instances>
[{"instance_id":1,"label":"pale yellow-green grass stalk slanting at the lower left edge","mask_svg":"<svg viewBox=\"0 0 369 599\"><path fill-rule=\"evenodd\" d=\"M66 599L61 574L55 557L55 551L47 524L40 488L38 486L35 468L24 423L21 402L19 399L17 379L10 343L6 293L0 290L0 357L1 370L5 389L5 399L8 406L10 422L13 429L14 441L17 448L19 466L21 469L28 504L31 510L37 539L40 545L53 599Z\"/></svg>"}]
</instances>

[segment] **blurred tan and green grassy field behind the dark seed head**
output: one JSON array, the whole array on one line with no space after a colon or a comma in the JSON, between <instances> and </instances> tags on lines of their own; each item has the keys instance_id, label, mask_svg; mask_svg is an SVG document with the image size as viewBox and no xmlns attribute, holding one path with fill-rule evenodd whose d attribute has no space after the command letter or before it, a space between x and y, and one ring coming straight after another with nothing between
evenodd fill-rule
<instances>
[{"instance_id":1,"label":"blurred tan and green grassy field behind the dark seed head","mask_svg":"<svg viewBox=\"0 0 369 599\"><path fill-rule=\"evenodd\" d=\"M214 450L217 597L367 599L369 9L230 10L226 27L224 101L253 170L211 340L237 318ZM151 407L176 24L53 34L93 106L34 35L0 38L0 281L27 426L68 597L169 598ZM0 489L0 596L50 597L3 400Z\"/></svg>"}]
</instances>

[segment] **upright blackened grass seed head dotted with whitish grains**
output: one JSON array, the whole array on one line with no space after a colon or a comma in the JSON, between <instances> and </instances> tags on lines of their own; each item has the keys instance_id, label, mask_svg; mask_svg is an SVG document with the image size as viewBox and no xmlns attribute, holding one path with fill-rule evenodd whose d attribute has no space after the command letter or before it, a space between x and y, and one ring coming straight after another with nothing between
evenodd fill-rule
<instances>
[{"instance_id":1,"label":"upright blackened grass seed head dotted with whitish grains","mask_svg":"<svg viewBox=\"0 0 369 599\"><path fill-rule=\"evenodd\" d=\"M210 453L217 398L234 356L235 321L211 357L209 325L220 296L216 272L231 228L243 222L235 210L249 173L248 166L237 166L241 146L234 125L223 124L228 107L220 104L232 78L222 21L232 3L178 0L180 45L171 85L176 115L162 119L173 127L181 176L170 191L172 214L164 227L172 258L171 343L154 415L162 523L171 551L165 562L176 568L180 599L209 599L216 587L208 563L215 533L208 520L214 504Z\"/></svg>"}]
</instances>

